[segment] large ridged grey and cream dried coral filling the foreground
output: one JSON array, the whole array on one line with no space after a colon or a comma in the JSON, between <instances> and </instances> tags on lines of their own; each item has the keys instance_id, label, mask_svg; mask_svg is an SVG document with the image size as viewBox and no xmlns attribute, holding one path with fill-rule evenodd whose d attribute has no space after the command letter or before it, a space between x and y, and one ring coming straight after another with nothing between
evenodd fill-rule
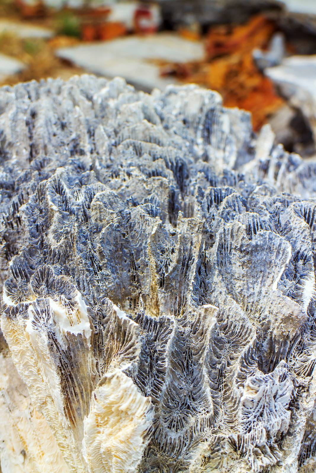
<instances>
[{"instance_id":1,"label":"large ridged grey and cream dried coral filling the foreground","mask_svg":"<svg viewBox=\"0 0 316 473\"><path fill-rule=\"evenodd\" d=\"M0 157L3 472L316 471L315 162L93 76L0 89Z\"/></svg>"}]
</instances>

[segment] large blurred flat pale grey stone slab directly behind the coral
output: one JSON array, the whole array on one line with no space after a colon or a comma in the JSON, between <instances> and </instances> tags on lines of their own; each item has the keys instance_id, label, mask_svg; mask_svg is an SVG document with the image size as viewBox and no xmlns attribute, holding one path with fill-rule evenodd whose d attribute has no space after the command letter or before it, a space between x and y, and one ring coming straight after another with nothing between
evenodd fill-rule
<instances>
[{"instance_id":1,"label":"large blurred flat pale grey stone slab directly behind the coral","mask_svg":"<svg viewBox=\"0 0 316 473\"><path fill-rule=\"evenodd\" d=\"M169 33L126 36L113 41L61 48L60 58L108 78L121 76L137 88L165 88L174 79L160 77L153 60L170 62L199 61L204 57L202 43Z\"/></svg>"}]
</instances>

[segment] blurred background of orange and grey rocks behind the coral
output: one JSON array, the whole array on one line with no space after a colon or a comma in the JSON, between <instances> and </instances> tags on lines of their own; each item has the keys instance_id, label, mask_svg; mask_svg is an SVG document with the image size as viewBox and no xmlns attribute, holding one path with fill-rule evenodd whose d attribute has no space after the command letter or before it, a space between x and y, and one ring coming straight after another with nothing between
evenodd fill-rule
<instances>
[{"instance_id":1,"label":"blurred background of orange and grey rocks behind the coral","mask_svg":"<svg viewBox=\"0 0 316 473\"><path fill-rule=\"evenodd\" d=\"M0 85L83 72L217 90L316 155L316 0L0 0Z\"/></svg>"}]
</instances>

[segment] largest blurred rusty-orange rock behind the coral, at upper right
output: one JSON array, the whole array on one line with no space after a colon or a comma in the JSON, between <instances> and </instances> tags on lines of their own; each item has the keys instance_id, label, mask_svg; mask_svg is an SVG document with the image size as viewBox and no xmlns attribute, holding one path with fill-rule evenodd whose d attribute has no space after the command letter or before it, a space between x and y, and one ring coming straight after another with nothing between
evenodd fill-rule
<instances>
[{"instance_id":1,"label":"largest blurred rusty-orange rock behind the coral, at upper right","mask_svg":"<svg viewBox=\"0 0 316 473\"><path fill-rule=\"evenodd\" d=\"M273 23L262 16L243 26L217 26L206 37L205 61L165 64L162 74L217 90L224 105L251 112L254 130L259 130L284 103L270 79L257 69L252 56L254 48L269 43L274 31Z\"/></svg>"}]
</instances>

